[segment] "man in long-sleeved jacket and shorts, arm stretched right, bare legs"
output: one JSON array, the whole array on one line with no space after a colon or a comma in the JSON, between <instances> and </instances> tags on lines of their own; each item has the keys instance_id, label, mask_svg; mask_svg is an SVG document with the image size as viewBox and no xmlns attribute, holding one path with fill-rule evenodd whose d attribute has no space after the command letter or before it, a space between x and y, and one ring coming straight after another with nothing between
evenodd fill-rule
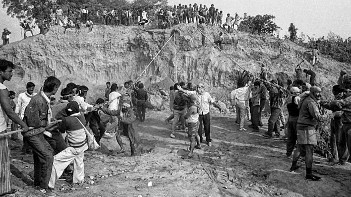
<instances>
[{"instance_id":1,"label":"man in long-sleeved jacket and shorts, arm stretched right, bare legs","mask_svg":"<svg viewBox=\"0 0 351 197\"><path fill-rule=\"evenodd\" d=\"M290 171L295 171L300 166L297 165L300 156L300 146L304 147L306 150L306 176L305 180L318 181L321 178L312 174L312 164L313 164L313 148L317 145L316 130L315 127L318 121L330 120L334 116L340 117L342 111L336 111L333 113L328 113L321 115L320 110L320 100L322 98L322 90L319 87L312 87L310 89L310 95L299 103L299 119L297 124L297 136L299 146L294 152L294 157L292 158L292 165Z\"/></svg>"}]
</instances>

